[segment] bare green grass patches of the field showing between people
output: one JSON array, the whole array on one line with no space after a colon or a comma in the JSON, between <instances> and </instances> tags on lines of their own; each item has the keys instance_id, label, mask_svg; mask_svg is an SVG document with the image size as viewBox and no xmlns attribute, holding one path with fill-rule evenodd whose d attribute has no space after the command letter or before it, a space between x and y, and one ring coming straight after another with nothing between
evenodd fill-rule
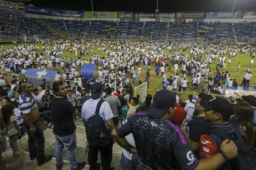
<instances>
[{"instance_id":1,"label":"bare green grass patches of the field showing between people","mask_svg":"<svg viewBox=\"0 0 256 170\"><path fill-rule=\"evenodd\" d=\"M90 43L92 43L92 42L90 42ZM37 51L37 52L38 52L38 54L40 54L41 51L42 51L42 44L39 43L39 44L36 44L36 45L39 46L39 51ZM106 41L106 45L108 45L108 42L107 42L107 41ZM12 45L12 44L3 44L3 46L4 46L4 49L11 48L11 47L14 48L14 45ZM93 53L93 54L99 54L99 56L104 56L104 55L105 55L105 54L103 53L103 51L100 51L100 52L98 53L96 43L94 43L94 46L95 46L95 48L94 48L94 53ZM26 47L27 47L27 46L26 46ZM81 58L83 58L83 59L89 59L90 56L92 55L91 48L92 48L92 46L90 45L90 48L88 49L88 55L85 56L85 57L81 57ZM49 49L52 49L52 46L49 46ZM177 47L176 47L176 49L177 49ZM113 49L111 49L111 50L113 50ZM172 54L172 53L169 52L167 49L164 50L164 52L165 52L166 54L169 54L169 55ZM44 53L45 56L47 56L45 52L43 52L43 53ZM80 54L80 50L78 51L78 54ZM185 54L189 54L189 49L185 52ZM64 50L63 55L64 55L68 60L69 60L70 58L76 58L76 57L75 57L75 54L74 54L73 52L72 52L72 53L68 53L66 50ZM189 56L190 56L190 54L189 54ZM205 54L203 55L202 61L204 61L204 57L205 57ZM229 57L229 56L226 55L226 59L228 59L228 57ZM241 85L243 75L247 73L247 72L246 72L246 69L248 68L250 59L251 59L250 53L248 53L248 54L238 54L238 55L237 55L237 59L232 59L232 60L231 60L231 66L230 66L230 67L227 66L227 68L226 68L227 71L229 71L229 73L231 74L230 78L231 78L231 79L236 79L239 85ZM236 73L236 69L237 69L237 64L238 64L238 62L241 63L240 73ZM216 61L212 61L211 68L210 68L211 71L212 71L212 73L214 73L215 67L216 67ZM139 79L139 80L141 80L142 82L144 82L144 80L145 80L145 74L146 74L147 69L145 69L143 65L141 66L141 68L143 68L143 70L141 71L141 76L140 76L140 79ZM61 68L57 68L57 69L60 70ZM180 68L179 68L179 69L180 69ZM251 81L250 81L250 87L252 87L252 85L256 83L256 79L254 78L254 77L256 76L256 74L254 74L254 70L255 70L255 69L256 69L256 64L254 63L253 66L252 66L252 71L253 71L253 72L252 72L252 75L253 75L253 78L252 78ZM154 88L156 88L157 90L160 90L160 89L162 88L162 79L161 79L161 77L159 77L158 79L156 78L156 74L154 74L154 70L155 70L154 65L151 65L151 71L150 71L151 77L150 77L149 89L154 89ZM220 70L220 72L221 72L221 71L222 71L222 70ZM179 76L180 76L180 71L178 71L178 73L179 73ZM173 75L174 75L174 68L173 68L173 65L171 66L171 71L166 73L166 76L167 76L167 77L169 77L169 76L171 76L171 75L172 75L172 77L173 77ZM139 80L137 80L137 83L138 83ZM191 84L191 82L192 82L191 78L187 77L187 80L188 80L188 86L187 86L187 90L186 90L186 91L187 91L187 92L194 92L194 91L192 91L192 88L191 88L191 86L192 86L192 84ZM130 82L132 83L132 79L130 79ZM178 82L178 85L179 85L179 84L180 84L180 82ZM204 82L201 81L201 84L204 84Z\"/></svg>"}]
</instances>

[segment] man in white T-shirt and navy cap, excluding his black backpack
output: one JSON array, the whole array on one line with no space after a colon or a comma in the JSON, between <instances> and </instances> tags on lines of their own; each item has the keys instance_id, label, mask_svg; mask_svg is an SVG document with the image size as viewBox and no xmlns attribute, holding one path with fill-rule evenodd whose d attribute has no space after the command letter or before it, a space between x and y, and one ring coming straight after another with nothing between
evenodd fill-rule
<instances>
[{"instance_id":1,"label":"man in white T-shirt and navy cap, excluding his black backpack","mask_svg":"<svg viewBox=\"0 0 256 170\"><path fill-rule=\"evenodd\" d=\"M96 107L98 102L101 101L102 97L102 84L99 82L93 83L91 87L91 99L84 102L81 111L81 117L84 120L84 125L86 127L87 119L89 119L93 114L96 113ZM113 113L108 102L102 102L99 108L99 116L105 121L106 126L110 131L114 128L113 123ZM112 161L112 147L113 142L111 141L108 145L102 147L92 147L89 144L88 151L88 162L90 165L90 170L99 170L100 164L97 164L98 153L101 153L101 163L102 170L111 170L110 164Z\"/></svg>"}]
</instances>

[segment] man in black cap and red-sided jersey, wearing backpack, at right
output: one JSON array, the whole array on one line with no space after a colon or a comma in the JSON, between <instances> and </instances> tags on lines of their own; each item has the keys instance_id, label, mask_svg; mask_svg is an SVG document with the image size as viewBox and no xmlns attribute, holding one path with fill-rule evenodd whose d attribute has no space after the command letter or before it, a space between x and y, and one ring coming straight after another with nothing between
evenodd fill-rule
<instances>
[{"instance_id":1,"label":"man in black cap and red-sided jersey, wearing backpack, at right","mask_svg":"<svg viewBox=\"0 0 256 170\"><path fill-rule=\"evenodd\" d=\"M220 150L221 142L225 139L233 140L238 148L238 155L235 159L226 157L226 163L221 166L223 170L252 170L255 166L255 153L246 144L247 136L237 125L230 123L230 116L235 112L233 106L224 98L215 97L212 100L200 100L200 105L205 108L205 119L212 123L200 137L199 157L200 159L210 158ZM248 153L252 153L248 157ZM253 165L254 164L254 165Z\"/></svg>"}]
</instances>

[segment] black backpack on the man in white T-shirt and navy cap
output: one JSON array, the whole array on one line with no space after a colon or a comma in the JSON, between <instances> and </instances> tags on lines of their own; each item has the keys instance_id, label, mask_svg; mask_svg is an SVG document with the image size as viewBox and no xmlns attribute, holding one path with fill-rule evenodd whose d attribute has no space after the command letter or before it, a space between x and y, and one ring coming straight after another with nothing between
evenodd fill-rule
<instances>
[{"instance_id":1,"label":"black backpack on the man in white T-shirt and navy cap","mask_svg":"<svg viewBox=\"0 0 256 170\"><path fill-rule=\"evenodd\" d=\"M90 147L106 146L112 142L113 138L105 121L99 115L99 109L105 100L100 100L97 104L95 114L91 115L86 122L86 136Z\"/></svg>"}]
</instances>

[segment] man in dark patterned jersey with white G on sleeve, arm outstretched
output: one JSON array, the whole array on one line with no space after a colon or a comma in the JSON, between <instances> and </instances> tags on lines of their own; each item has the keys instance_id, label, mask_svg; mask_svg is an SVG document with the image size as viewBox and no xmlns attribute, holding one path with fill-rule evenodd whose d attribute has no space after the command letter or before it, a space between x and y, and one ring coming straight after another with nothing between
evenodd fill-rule
<instances>
[{"instance_id":1,"label":"man in dark patterned jersey with white G on sleeve, arm outstretched","mask_svg":"<svg viewBox=\"0 0 256 170\"><path fill-rule=\"evenodd\" d=\"M169 120L175 111L175 94L162 90L155 94L148 113L135 113L117 125L112 131L116 142L134 153L133 170L169 170L169 169L217 169L228 156L237 154L233 141L225 140L221 144L222 152L211 159L198 160L192 151L180 127ZM125 136L132 133L136 148L132 147Z\"/></svg>"}]
</instances>

